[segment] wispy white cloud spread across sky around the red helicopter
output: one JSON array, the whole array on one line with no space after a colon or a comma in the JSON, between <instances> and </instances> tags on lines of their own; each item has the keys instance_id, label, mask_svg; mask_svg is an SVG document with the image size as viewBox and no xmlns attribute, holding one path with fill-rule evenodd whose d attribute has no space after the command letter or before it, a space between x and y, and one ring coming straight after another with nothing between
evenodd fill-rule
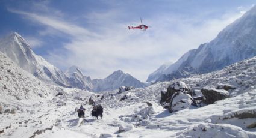
<instances>
[{"instance_id":1,"label":"wispy white cloud spread across sky around the red helicopter","mask_svg":"<svg viewBox=\"0 0 256 138\"><path fill-rule=\"evenodd\" d=\"M54 49L45 57L57 67L78 65L92 78L104 78L121 69L142 81L164 62L175 62L188 50L211 41L226 25L242 16L239 11L215 18L204 18L207 13L202 17L161 14L144 19L143 23L152 28L139 31L128 30L127 26L139 25L140 20L124 23L119 19L122 11L118 9L82 15L92 25L90 29L70 22L60 12L9 11L45 26L39 32L41 35L69 36L63 48Z\"/></svg>"}]
</instances>

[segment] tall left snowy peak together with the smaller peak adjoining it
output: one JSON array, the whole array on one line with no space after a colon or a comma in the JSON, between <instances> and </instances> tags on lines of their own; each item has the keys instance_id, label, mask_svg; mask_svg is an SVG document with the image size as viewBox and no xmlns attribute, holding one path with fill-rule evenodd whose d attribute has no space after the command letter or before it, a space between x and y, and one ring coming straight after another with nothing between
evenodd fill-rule
<instances>
[{"instance_id":1,"label":"tall left snowy peak together with the smaller peak adjoining it","mask_svg":"<svg viewBox=\"0 0 256 138\"><path fill-rule=\"evenodd\" d=\"M0 40L0 51L5 53L23 70L44 82L56 83L64 87L92 89L90 77L83 76L83 73L77 67L72 67L67 73L63 73L44 58L36 55L27 41L17 32L13 32Z\"/></svg>"}]
</instances>

